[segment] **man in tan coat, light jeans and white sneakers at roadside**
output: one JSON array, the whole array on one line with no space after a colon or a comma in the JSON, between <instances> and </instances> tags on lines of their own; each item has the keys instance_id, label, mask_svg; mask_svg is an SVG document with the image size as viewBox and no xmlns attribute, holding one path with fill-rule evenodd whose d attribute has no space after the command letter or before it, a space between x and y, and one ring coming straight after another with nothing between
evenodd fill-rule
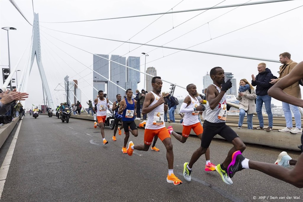
<instances>
[{"instance_id":1,"label":"man in tan coat, light jeans and white sneakers at roadside","mask_svg":"<svg viewBox=\"0 0 303 202\"><path fill-rule=\"evenodd\" d=\"M280 66L279 71L279 78L278 79L271 79L271 84L275 84L278 82L281 78L288 75L292 69L298 64L290 59L291 55L288 52L281 53L279 55L280 62L283 64ZM301 89L299 82L296 82L292 84L291 86L285 88L283 90L285 93L294 96L295 98L301 98ZM286 127L284 129L278 130L279 132L291 132L291 133L302 133L301 130L301 114L299 111L299 108L295 105L288 104L286 102L282 102L282 108L284 111L284 116L286 120ZM292 113L294 114L295 121L296 121L296 127L295 129L292 128Z\"/></svg>"}]
</instances>

